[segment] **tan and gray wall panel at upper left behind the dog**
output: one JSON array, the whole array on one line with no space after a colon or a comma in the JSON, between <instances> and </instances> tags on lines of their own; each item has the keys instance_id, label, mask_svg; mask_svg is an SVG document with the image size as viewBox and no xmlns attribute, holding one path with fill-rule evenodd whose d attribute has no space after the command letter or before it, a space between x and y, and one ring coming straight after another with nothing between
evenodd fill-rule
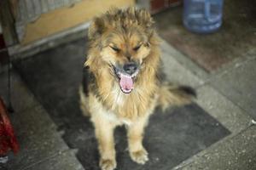
<instances>
[{"instance_id":1,"label":"tan and gray wall panel at upper left behind the dog","mask_svg":"<svg viewBox=\"0 0 256 170\"><path fill-rule=\"evenodd\" d=\"M10 0L21 45L79 26L108 8L125 7L135 0Z\"/></svg>"}]
</instances>

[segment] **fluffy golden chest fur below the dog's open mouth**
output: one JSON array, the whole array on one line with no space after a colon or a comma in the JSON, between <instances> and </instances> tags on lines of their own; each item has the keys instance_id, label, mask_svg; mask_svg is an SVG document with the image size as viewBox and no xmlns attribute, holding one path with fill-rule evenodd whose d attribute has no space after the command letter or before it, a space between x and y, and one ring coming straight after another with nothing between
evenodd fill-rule
<instances>
[{"instance_id":1,"label":"fluffy golden chest fur below the dog's open mouth","mask_svg":"<svg viewBox=\"0 0 256 170\"><path fill-rule=\"evenodd\" d=\"M148 67L151 68L151 67ZM149 70L149 71L148 71ZM101 70L95 75L95 82L90 82L90 93L96 97L102 107L120 119L135 120L152 112L157 100L157 81L154 70L141 70L134 82L130 94L124 94L119 82L109 71ZM93 104L92 104L93 105Z\"/></svg>"}]
</instances>

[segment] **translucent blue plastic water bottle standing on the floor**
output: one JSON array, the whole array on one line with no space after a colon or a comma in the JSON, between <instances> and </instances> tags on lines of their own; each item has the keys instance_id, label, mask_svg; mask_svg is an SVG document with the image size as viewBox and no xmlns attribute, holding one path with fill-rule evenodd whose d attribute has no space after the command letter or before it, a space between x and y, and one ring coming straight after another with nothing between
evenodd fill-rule
<instances>
[{"instance_id":1,"label":"translucent blue plastic water bottle standing on the floor","mask_svg":"<svg viewBox=\"0 0 256 170\"><path fill-rule=\"evenodd\" d=\"M217 31L222 24L223 0L184 0L183 25L197 33Z\"/></svg>"}]
</instances>

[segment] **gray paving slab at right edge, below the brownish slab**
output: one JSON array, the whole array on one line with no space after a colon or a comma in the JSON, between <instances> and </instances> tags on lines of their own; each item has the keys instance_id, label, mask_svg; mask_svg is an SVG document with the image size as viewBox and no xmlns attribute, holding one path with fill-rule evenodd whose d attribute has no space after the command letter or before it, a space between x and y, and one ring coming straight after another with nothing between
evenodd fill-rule
<instances>
[{"instance_id":1,"label":"gray paving slab at right edge, below the brownish slab","mask_svg":"<svg viewBox=\"0 0 256 170\"><path fill-rule=\"evenodd\" d=\"M237 63L232 71L215 77L211 83L214 88L236 103L256 119L256 59L249 58L244 63ZM234 82L236 80L236 82Z\"/></svg>"}]
</instances>

